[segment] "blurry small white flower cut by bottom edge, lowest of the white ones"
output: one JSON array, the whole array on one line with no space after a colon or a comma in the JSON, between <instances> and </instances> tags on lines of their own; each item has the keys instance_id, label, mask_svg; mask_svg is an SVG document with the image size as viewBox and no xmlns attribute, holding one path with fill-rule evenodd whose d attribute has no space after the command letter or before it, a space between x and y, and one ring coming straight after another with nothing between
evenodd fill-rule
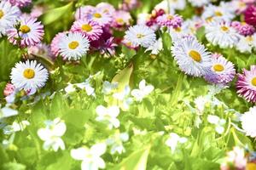
<instances>
[{"instance_id":1,"label":"blurry small white flower cut by bottom edge, lowest of the white ones","mask_svg":"<svg viewBox=\"0 0 256 170\"><path fill-rule=\"evenodd\" d=\"M91 148L81 147L71 150L71 156L75 160L82 161L82 170L97 170L105 168L105 161L102 155L106 152L106 144L94 144Z\"/></svg>"}]
</instances>

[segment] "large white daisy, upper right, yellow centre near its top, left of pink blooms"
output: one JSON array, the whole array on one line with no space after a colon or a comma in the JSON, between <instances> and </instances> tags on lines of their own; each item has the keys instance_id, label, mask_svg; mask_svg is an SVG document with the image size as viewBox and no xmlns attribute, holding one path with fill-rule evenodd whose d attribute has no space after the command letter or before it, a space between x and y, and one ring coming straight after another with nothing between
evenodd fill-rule
<instances>
[{"instance_id":1,"label":"large white daisy, upper right, yellow centre near its top, left of pink blooms","mask_svg":"<svg viewBox=\"0 0 256 170\"><path fill-rule=\"evenodd\" d=\"M206 26L208 42L220 48L233 48L239 42L240 35L229 22L212 22Z\"/></svg>"}]
</instances>

